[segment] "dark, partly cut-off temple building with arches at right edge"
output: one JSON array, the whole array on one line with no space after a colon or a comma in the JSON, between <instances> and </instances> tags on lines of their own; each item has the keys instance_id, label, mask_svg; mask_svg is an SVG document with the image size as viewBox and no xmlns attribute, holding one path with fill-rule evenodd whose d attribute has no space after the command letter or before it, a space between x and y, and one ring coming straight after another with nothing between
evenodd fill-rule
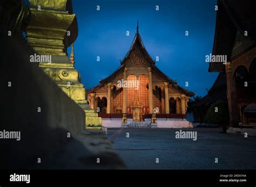
<instances>
[{"instance_id":1,"label":"dark, partly cut-off temple building with arches at right edge","mask_svg":"<svg viewBox=\"0 0 256 187\"><path fill-rule=\"evenodd\" d=\"M255 6L254 0L218 1L212 55L226 55L227 62L211 62L208 71L225 75L227 93L223 95L228 100L231 130L256 126Z\"/></svg>"}]
</instances>

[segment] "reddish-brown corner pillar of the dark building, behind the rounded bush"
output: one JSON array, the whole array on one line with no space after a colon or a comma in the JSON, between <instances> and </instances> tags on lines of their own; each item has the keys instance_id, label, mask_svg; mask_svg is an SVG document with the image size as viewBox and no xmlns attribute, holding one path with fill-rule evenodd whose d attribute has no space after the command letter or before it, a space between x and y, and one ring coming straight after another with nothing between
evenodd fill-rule
<instances>
[{"instance_id":1,"label":"reddish-brown corner pillar of the dark building, behind the rounded bush","mask_svg":"<svg viewBox=\"0 0 256 187\"><path fill-rule=\"evenodd\" d=\"M235 90L235 80L233 78L231 62L226 62L225 68L227 77L228 110L230 111L230 127L239 127L237 93Z\"/></svg>"}]
</instances>

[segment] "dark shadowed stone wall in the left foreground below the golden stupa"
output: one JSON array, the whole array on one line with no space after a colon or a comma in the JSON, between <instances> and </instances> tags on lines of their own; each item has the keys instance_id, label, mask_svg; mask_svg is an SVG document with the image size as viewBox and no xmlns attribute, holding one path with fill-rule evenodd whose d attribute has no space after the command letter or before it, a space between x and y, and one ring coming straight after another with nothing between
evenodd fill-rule
<instances>
[{"instance_id":1,"label":"dark shadowed stone wall in the left foreground below the golden stupa","mask_svg":"<svg viewBox=\"0 0 256 187\"><path fill-rule=\"evenodd\" d=\"M2 28L0 131L20 131L21 140L0 139L0 169L31 168L38 157L83 131L85 113L29 61L30 47L22 35L8 36Z\"/></svg>"}]
</instances>

